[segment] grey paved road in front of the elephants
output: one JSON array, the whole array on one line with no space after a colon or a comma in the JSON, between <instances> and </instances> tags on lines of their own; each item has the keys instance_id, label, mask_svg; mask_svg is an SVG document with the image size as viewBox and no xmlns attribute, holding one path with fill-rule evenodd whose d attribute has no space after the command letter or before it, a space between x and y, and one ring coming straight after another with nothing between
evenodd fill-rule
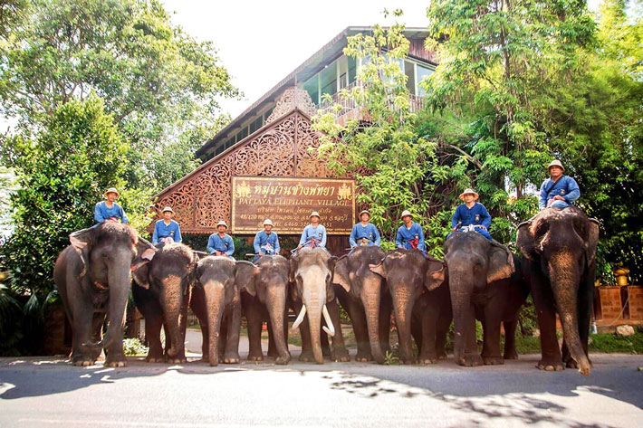
<instances>
[{"instance_id":1,"label":"grey paved road in front of the elephants","mask_svg":"<svg viewBox=\"0 0 643 428\"><path fill-rule=\"evenodd\" d=\"M244 362L73 367L0 358L0 426L641 427L641 356L594 355L594 370Z\"/></svg>"}]
</instances>

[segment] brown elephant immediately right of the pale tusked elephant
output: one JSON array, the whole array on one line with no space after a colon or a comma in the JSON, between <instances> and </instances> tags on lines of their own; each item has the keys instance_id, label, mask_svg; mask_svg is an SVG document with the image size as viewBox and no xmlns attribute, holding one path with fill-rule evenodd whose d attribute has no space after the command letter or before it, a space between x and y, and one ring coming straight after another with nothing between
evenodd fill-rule
<instances>
[{"instance_id":1,"label":"brown elephant immediately right of the pale tusked elephant","mask_svg":"<svg viewBox=\"0 0 643 428\"><path fill-rule=\"evenodd\" d=\"M355 332L356 361L375 359L382 364L389 350L390 294L386 281L369 270L370 264L380 262L384 256L377 246L360 246L335 262L332 282Z\"/></svg>"}]
</instances>

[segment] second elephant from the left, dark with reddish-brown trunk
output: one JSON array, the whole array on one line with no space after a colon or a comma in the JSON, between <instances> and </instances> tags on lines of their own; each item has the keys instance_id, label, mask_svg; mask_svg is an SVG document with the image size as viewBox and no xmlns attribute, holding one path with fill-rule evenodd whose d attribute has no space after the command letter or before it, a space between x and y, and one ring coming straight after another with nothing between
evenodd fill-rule
<instances>
[{"instance_id":1,"label":"second elephant from the left, dark with reddish-brown trunk","mask_svg":"<svg viewBox=\"0 0 643 428\"><path fill-rule=\"evenodd\" d=\"M152 262L133 274L132 295L145 318L149 352L146 361L185 363L187 304L195 279L198 257L182 243L161 243ZM161 347L165 326L167 355Z\"/></svg>"}]
</instances>

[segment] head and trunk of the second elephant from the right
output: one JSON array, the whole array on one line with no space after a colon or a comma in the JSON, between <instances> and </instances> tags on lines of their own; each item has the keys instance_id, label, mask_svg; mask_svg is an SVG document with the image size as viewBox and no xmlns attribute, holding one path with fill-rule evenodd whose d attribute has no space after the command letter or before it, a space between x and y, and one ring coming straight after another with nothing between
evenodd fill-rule
<instances>
[{"instance_id":1,"label":"head and trunk of the second elephant from the right","mask_svg":"<svg viewBox=\"0 0 643 428\"><path fill-rule=\"evenodd\" d=\"M472 298L487 284L509 278L515 267L513 255L504 245L490 242L475 232L456 232L445 243L445 262L454 312L457 364L483 364L475 341Z\"/></svg>"}]
</instances>

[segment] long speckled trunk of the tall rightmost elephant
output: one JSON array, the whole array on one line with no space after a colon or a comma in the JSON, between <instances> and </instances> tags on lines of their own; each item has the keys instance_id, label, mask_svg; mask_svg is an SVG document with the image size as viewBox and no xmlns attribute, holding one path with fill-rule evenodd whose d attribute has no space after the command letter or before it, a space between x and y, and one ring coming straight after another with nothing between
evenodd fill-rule
<instances>
[{"instance_id":1,"label":"long speckled trunk of the tall rightmost elephant","mask_svg":"<svg viewBox=\"0 0 643 428\"><path fill-rule=\"evenodd\" d=\"M571 252L560 252L550 259L549 275L553 297L559 310L562 336L583 376L590 374L590 360L585 354L579 335L578 284L580 274L575 268L575 257Z\"/></svg>"}]
</instances>

